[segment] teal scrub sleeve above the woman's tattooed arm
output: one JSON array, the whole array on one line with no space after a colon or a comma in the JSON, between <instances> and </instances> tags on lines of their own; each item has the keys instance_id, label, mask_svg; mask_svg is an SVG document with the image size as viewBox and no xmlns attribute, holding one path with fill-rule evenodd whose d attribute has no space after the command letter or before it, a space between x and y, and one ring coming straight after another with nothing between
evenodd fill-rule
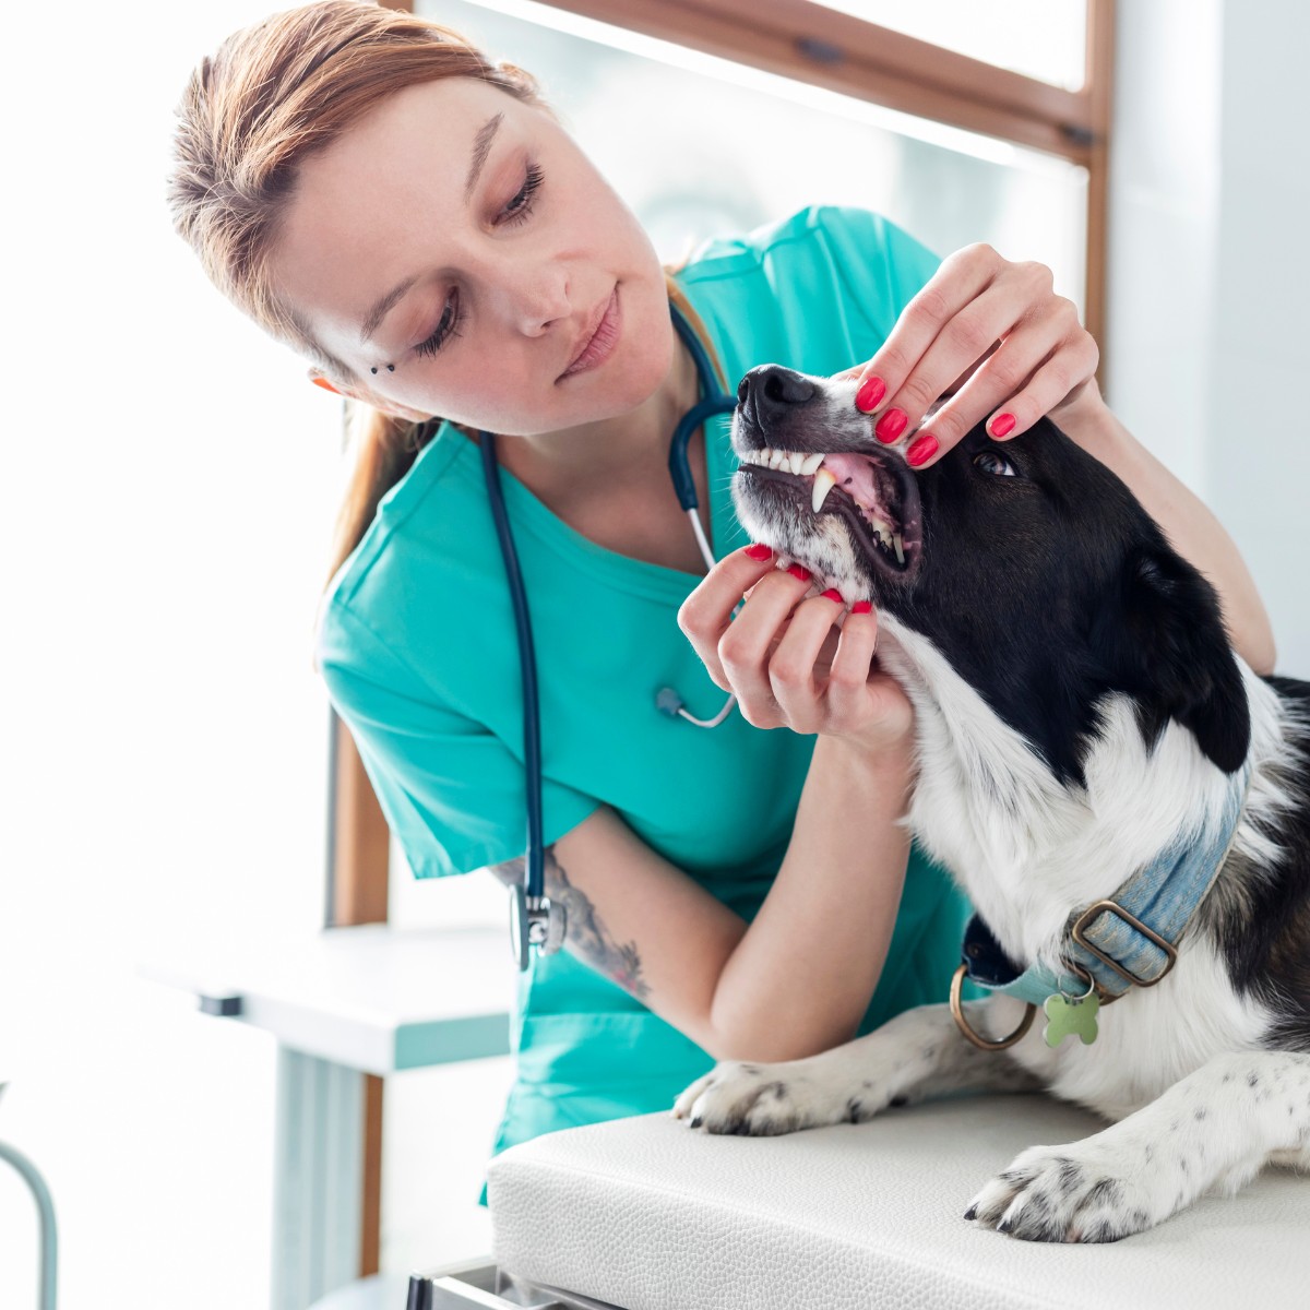
<instances>
[{"instance_id":1,"label":"teal scrub sleeve above the woman's tattooed arm","mask_svg":"<svg viewBox=\"0 0 1310 1310\"><path fill-rule=\"evenodd\" d=\"M499 738L434 703L414 672L341 607L320 625L318 667L415 878L468 874L527 852L524 769ZM545 778L544 842L599 804Z\"/></svg>"}]
</instances>

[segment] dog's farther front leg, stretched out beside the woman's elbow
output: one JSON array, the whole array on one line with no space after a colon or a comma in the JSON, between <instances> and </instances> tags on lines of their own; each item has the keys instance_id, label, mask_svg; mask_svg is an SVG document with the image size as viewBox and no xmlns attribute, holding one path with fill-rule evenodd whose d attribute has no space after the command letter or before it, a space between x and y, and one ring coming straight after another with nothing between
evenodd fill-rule
<instances>
[{"instance_id":1,"label":"dog's farther front leg, stretched out beside the woman's elbow","mask_svg":"<svg viewBox=\"0 0 1310 1310\"><path fill-rule=\"evenodd\" d=\"M964 1006L981 1030L986 1002ZM673 1116L711 1133L772 1137L859 1123L891 1104L945 1091L1032 1091L1041 1083L1005 1055L967 1041L947 1005L907 1010L875 1032L804 1060L715 1065L673 1104Z\"/></svg>"}]
</instances>

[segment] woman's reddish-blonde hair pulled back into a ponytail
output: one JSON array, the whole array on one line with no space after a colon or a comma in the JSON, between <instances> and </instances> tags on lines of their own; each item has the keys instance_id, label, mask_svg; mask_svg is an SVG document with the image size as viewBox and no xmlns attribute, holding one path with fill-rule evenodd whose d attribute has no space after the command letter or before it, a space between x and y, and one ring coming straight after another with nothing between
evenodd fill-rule
<instances>
[{"instance_id":1,"label":"woman's reddish-blonde hair pulled back into a ponytail","mask_svg":"<svg viewBox=\"0 0 1310 1310\"><path fill-rule=\"evenodd\" d=\"M174 227L229 300L329 377L346 381L354 371L314 339L271 276L296 170L388 96L443 77L477 77L558 122L531 73L491 63L430 18L371 0L325 0L244 28L200 60L182 94L168 183ZM669 270L665 280L703 337ZM436 423L348 401L347 430L354 468L333 529L329 578Z\"/></svg>"}]
</instances>

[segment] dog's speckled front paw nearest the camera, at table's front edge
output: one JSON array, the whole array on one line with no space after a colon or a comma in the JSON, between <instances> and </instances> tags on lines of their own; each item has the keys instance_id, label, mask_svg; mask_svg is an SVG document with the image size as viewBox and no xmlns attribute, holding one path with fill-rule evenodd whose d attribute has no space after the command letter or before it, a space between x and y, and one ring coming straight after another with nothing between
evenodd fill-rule
<instances>
[{"instance_id":1,"label":"dog's speckled front paw nearest the camera, at table's front edge","mask_svg":"<svg viewBox=\"0 0 1310 1310\"><path fill-rule=\"evenodd\" d=\"M1027 1242L1117 1242L1144 1233L1172 1207L1142 1180L1141 1162L1090 1142L1031 1146L964 1212Z\"/></svg>"}]
</instances>

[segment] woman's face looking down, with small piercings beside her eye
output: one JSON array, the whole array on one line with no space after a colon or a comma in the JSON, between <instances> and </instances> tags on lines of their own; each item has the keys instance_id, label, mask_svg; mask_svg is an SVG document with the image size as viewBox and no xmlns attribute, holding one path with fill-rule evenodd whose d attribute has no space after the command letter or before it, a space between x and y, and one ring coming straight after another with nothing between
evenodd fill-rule
<instances>
[{"instance_id":1,"label":"woman's face looking down, with small piercings beside her eye","mask_svg":"<svg viewBox=\"0 0 1310 1310\"><path fill-rule=\"evenodd\" d=\"M310 156L272 272L398 413L553 432L633 410L673 359L663 270L631 211L553 119L470 77L397 92ZM561 376L616 288L608 358Z\"/></svg>"}]
</instances>

